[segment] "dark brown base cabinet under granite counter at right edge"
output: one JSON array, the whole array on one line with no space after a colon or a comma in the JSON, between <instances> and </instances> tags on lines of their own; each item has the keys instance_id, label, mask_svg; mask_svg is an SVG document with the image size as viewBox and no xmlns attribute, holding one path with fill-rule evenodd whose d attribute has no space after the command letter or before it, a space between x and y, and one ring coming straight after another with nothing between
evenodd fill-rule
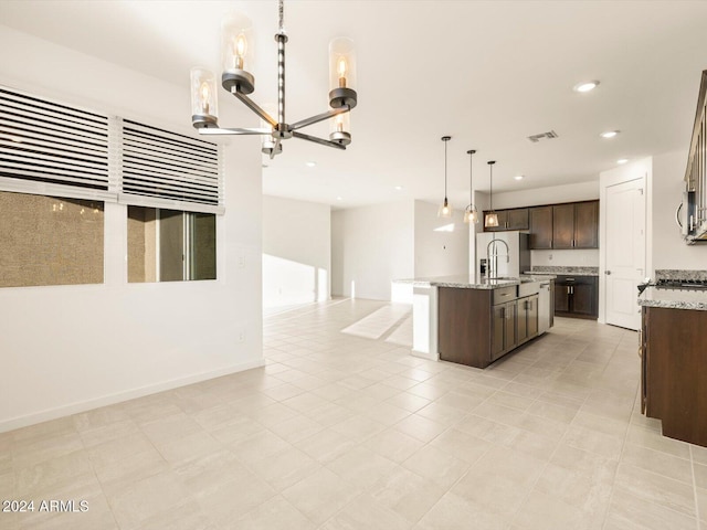
<instances>
[{"instance_id":1,"label":"dark brown base cabinet under granite counter at right edge","mask_svg":"<svg viewBox=\"0 0 707 530\"><path fill-rule=\"evenodd\" d=\"M642 405L663 435L707 446L707 311L643 307Z\"/></svg>"}]
</instances>

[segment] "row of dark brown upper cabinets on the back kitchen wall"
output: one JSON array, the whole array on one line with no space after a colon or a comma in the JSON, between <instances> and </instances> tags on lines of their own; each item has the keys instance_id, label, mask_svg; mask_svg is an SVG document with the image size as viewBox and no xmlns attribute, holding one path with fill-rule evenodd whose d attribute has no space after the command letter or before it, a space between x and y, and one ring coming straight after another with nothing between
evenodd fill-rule
<instances>
[{"instance_id":1,"label":"row of dark brown upper cabinets on the back kitchen wall","mask_svg":"<svg viewBox=\"0 0 707 530\"><path fill-rule=\"evenodd\" d=\"M528 230L530 250L599 248L599 201L496 210L496 213L498 226L484 230Z\"/></svg>"}]
</instances>

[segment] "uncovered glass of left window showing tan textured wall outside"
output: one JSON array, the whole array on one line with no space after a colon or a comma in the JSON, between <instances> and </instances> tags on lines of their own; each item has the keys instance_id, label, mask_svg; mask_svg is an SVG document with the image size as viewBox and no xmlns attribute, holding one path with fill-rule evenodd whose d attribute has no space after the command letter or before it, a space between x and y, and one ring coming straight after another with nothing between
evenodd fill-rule
<instances>
[{"instance_id":1,"label":"uncovered glass of left window showing tan textured wall outside","mask_svg":"<svg viewBox=\"0 0 707 530\"><path fill-rule=\"evenodd\" d=\"M104 204L0 191L0 287L103 283Z\"/></svg>"}]
</instances>

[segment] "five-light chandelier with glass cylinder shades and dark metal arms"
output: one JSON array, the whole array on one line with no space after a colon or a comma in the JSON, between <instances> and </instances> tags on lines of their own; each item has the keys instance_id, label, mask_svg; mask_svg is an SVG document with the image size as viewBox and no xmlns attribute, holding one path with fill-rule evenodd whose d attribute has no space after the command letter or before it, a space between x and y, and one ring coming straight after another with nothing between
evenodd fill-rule
<instances>
[{"instance_id":1,"label":"five-light chandelier with glass cylinder shades and dark metal arms","mask_svg":"<svg viewBox=\"0 0 707 530\"><path fill-rule=\"evenodd\" d=\"M255 78L247 70L253 62L253 30L243 14L229 17L221 33L221 86L261 118L260 128L222 128L218 121L217 81L205 68L191 70L191 124L202 135L260 135L262 151L274 158L282 152L282 140L299 138L336 149L351 142L349 110L356 107L356 54L350 39L339 38L329 43L329 107L326 113L288 124L285 119L285 44L284 0L278 0L279 25L277 42L277 113L271 116L249 97L255 89ZM330 120L329 138L318 138L300 129Z\"/></svg>"}]
</instances>

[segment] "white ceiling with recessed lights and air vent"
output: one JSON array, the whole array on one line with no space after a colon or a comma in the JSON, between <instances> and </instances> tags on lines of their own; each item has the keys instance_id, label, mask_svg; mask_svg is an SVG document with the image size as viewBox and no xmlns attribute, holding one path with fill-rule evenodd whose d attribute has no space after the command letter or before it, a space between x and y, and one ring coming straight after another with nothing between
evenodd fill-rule
<instances>
[{"instance_id":1,"label":"white ceiling with recessed lights and air vent","mask_svg":"<svg viewBox=\"0 0 707 530\"><path fill-rule=\"evenodd\" d=\"M231 10L257 32L252 97L274 102L275 0L0 0L0 22L187 88L191 66L218 71L220 21ZM288 140L265 162L263 190L337 208L439 202L440 138L450 135L449 198L463 209L468 149L477 150L476 189L488 189L486 161L497 160L494 191L587 182L619 158L686 149L706 26L704 1L287 0L287 121L327 109L334 36L357 43L359 104L346 151ZM601 85L572 91L588 80ZM240 103L222 92L224 105ZM221 123L244 125L253 124ZM600 138L609 129L621 134ZM527 139L548 130L559 138ZM304 131L328 134L323 124Z\"/></svg>"}]
</instances>

